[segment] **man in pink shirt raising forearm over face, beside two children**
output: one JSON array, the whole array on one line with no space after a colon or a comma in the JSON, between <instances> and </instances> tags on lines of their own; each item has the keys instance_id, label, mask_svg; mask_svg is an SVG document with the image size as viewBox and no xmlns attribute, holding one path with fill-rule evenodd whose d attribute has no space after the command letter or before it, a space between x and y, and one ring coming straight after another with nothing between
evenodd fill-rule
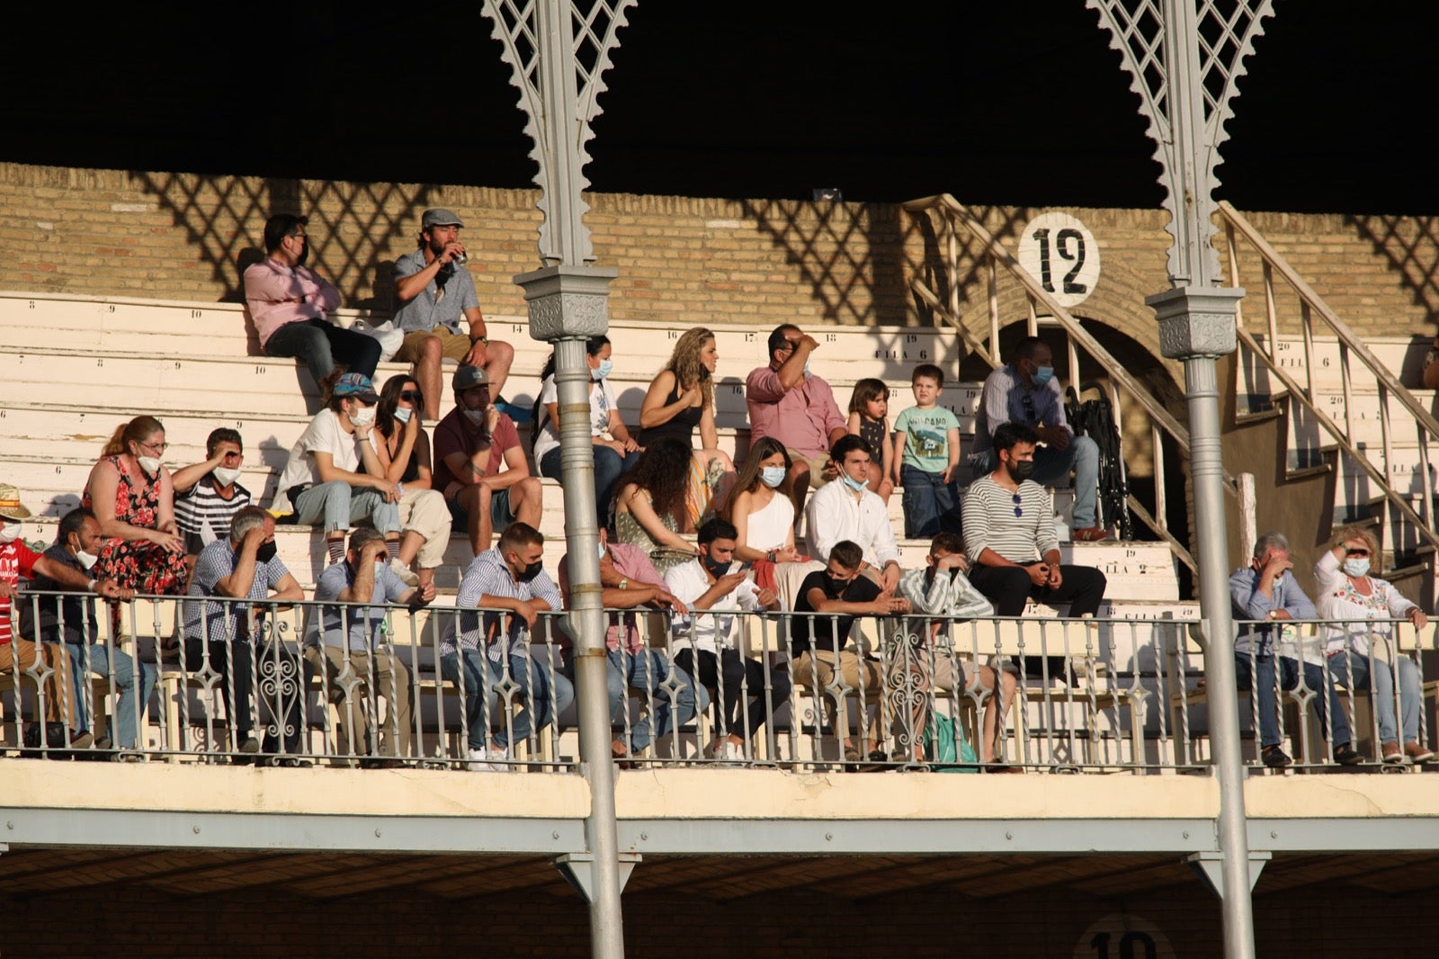
<instances>
[{"instance_id":1,"label":"man in pink shirt raising forearm over face, beside two children","mask_svg":"<svg viewBox=\"0 0 1439 959\"><path fill-rule=\"evenodd\" d=\"M829 383L809 372L814 337L786 323L770 334L770 364L753 370L744 382L750 408L750 444L773 436L790 454L794 515L803 515L810 487L819 488L837 474L829 448L846 433L845 415Z\"/></svg>"}]
</instances>

